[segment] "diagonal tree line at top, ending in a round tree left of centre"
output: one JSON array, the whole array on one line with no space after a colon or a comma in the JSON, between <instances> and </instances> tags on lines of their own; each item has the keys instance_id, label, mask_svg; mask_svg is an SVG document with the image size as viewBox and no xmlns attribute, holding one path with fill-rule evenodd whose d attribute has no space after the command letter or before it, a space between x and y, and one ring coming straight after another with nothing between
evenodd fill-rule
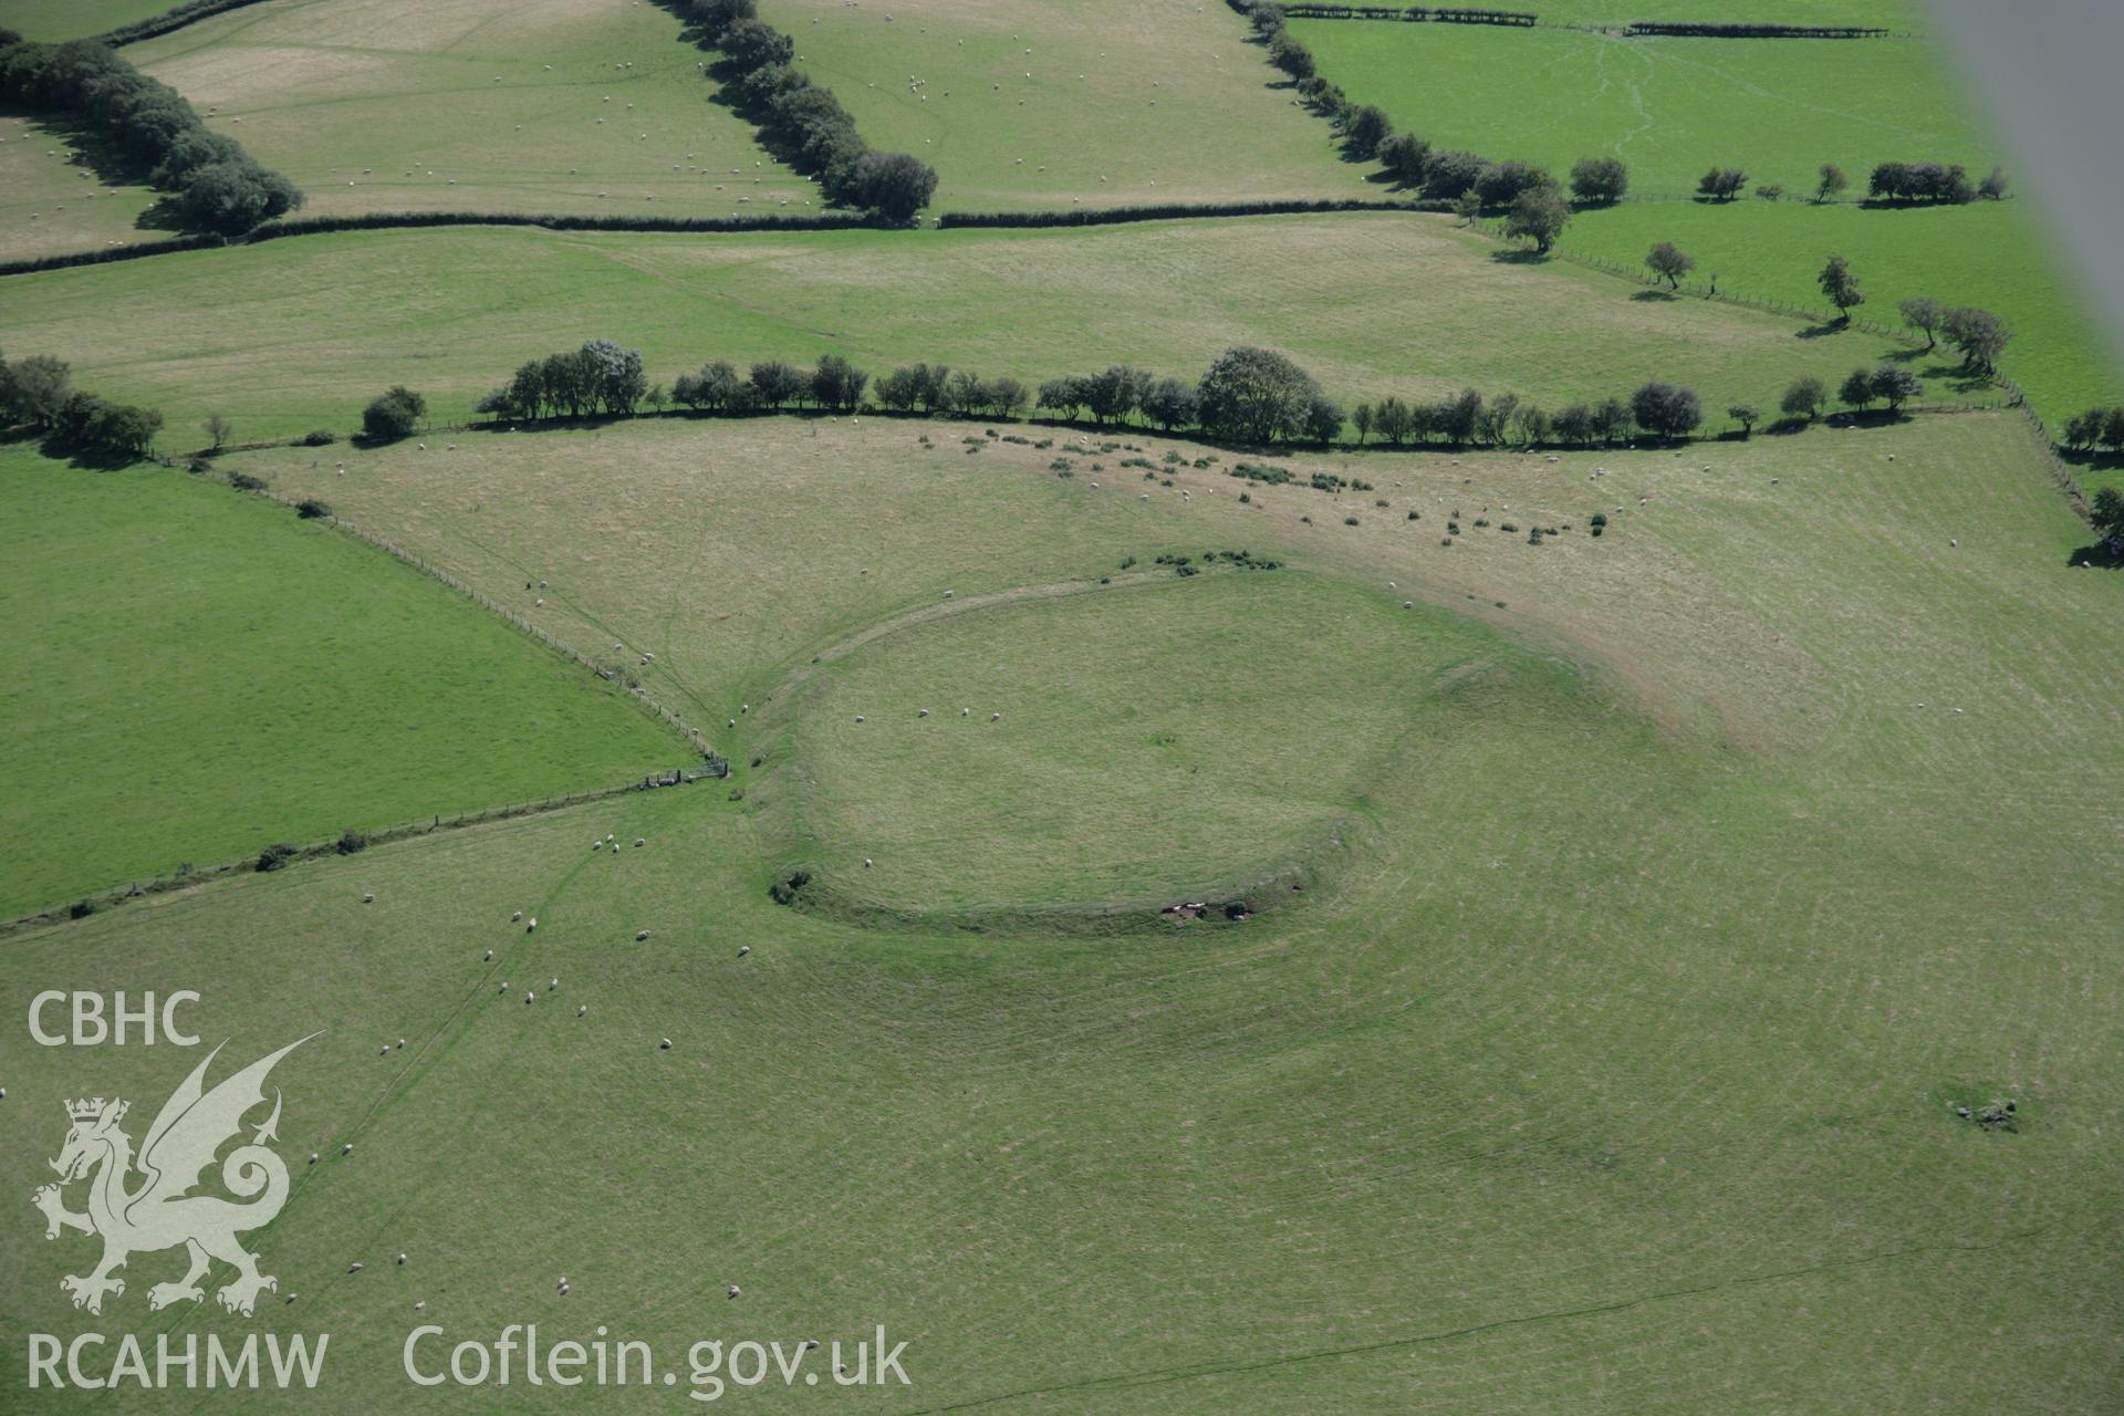
<instances>
[{"instance_id":1,"label":"diagonal tree line at top, ending in a round tree left of centre","mask_svg":"<svg viewBox=\"0 0 2124 1416\"><path fill-rule=\"evenodd\" d=\"M758 17L754 0L690 0L701 42L722 53L726 96L818 178L837 206L911 221L937 193L937 172L911 153L873 153L828 89L794 68L796 42Z\"/></svg>"}]
</instances>

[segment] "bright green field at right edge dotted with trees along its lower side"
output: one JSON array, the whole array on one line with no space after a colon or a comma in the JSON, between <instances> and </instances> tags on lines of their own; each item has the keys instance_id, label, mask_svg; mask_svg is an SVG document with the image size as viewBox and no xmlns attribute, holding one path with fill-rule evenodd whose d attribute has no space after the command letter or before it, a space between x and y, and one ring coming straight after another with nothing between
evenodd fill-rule
<instances>
[{"instance_id":1,"label":"bright green field at right edge dotted with trees along its lower side","mask_svg":"<svg viewBox=\"0 0 2124 1416\"><path fill-rule=\"evenodd\" d=\"M1863 318L1901 325L1897 306L1912 295L1997 310L2016 329L2001 367L2052 427L2124 393L2124 374L2026 202L1941 210L1625 202L1580 212L1561 246L1631 265L1661 240L1697 261L1684 289L1703 289L1716 274L1718 289L1729 295L1827 310L1814 278L1831 255L1844 255L1867 297L1858 308ZM1956 359L1948 355L1939 363ZM1933 388L1948 382L1935 378Z\"/></svg>"}]
</instances>

